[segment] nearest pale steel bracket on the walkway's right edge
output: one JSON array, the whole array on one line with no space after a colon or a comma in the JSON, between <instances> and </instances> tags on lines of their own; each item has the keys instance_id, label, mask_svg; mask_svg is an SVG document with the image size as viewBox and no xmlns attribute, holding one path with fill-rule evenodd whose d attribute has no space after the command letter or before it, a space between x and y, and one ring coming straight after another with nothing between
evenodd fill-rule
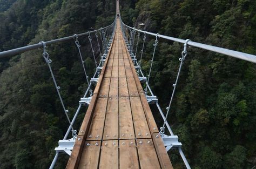
<instances>
[{"instance_id":1,"label":"nearest pale steel bracket on the walkway's right edge","mask_svg":"<svg viewBox=\"0 0 256 169\"><path fill-rule=\"evenodd\" d=\"M161 138L164 141L164 146L166 151L169 151L171 148L178 148L181 147L181 143L179 142L178 136L167 136L163 134Z\"/></svg>"}]
</instances>

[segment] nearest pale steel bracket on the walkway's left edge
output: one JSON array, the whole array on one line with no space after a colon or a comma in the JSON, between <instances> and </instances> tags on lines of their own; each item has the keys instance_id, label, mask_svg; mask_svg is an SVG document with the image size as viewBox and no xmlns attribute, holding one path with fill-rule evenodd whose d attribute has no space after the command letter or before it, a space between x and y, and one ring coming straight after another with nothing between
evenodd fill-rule
<instances>
[{"instance_id":1,"label":"nearest pale steel bracket on the walkway's left edge","mask_svg":"<svg viewBox=\"0 0 256 169\"><path fill-rule=\"evenodd\" d=\"M76 139L71 138L69 140L59 140L59 146L55 148L56 152L65 152L71 155L71 150L73 150L73 146L75 144Z\"/></svg>"}]
</instances>

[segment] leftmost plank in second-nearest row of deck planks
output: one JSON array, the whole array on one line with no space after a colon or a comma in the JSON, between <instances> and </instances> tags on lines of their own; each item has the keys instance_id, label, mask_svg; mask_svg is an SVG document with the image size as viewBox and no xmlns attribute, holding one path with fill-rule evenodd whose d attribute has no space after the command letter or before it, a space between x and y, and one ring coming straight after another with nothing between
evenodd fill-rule
<instances>
[{"instance_id":1,"label":"leftmost plank in second-nearest row of deck planks","mask_svg":"<svg viewBox=\"0 0 256 169\"><path fill-rule=\"evenodd\" d=\"M87 140L101 140L106 115L107 98L98 98Z\"/></svg>"}]
</instances>

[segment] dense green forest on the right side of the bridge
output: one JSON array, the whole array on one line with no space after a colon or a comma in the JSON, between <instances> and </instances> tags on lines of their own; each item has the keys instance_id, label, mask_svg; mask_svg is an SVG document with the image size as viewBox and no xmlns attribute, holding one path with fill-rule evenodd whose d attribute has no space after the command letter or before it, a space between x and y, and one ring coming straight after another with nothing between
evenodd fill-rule
<instances>
[{"instance_id":1,"label":"dense green forest on the right side of the bridge","mask_svg":"<svg viewBox=\"0 0 256 169\"><path fill-rule=\"evenodd\" d=\"M121 11L123 20L137 28L144 23L142 29L147 31L256 53L255 1L140 0L136 8L123 6ZM149 72L153 40L147 36L145 72ZM169 102L182 50L182 44L159 39L150 84L162 107ZM255 165L255 82L255 64L188 48L169 121L192 168ZM157 111L155 115L162 124ZM182 168L176 152L170 152L174 168Z\"/></svg>"}]
</instances>

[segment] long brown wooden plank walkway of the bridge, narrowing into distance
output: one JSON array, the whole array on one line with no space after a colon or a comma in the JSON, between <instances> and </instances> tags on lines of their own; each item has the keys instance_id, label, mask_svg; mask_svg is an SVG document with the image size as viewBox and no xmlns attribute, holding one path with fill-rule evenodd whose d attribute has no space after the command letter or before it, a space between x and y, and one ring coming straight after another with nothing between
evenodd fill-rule
<instances>
[{"instance_id":1,"label":"long brown wooden plank walkway of the bridge, narrowing into distance","mask_svg":"<svg viewBox=\"0 0 256 169\"><path fill-rule=\"evenodd\" d=\"M119 19L66 168L172 168Z\"/></svg>"}]
</instances>

